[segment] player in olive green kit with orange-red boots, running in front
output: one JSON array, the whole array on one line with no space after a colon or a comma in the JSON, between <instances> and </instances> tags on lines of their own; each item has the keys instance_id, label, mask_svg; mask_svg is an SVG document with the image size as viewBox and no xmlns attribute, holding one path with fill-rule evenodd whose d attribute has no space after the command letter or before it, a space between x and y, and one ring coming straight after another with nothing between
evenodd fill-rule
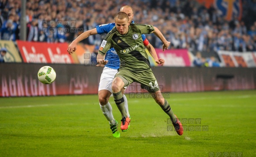
<instances>
[{"instance_id":1,"label":"player in olive green kit with orange-red boots, running in front","mask_svg":"<svg viewBox=\"0 0 256 157\"><path fill-rule=\"evenodd\" d=\"M115 27L110 31L98 51L97 61L104 63L104 55L113 47L120 59L120 68L112 83L115 104L122 115L121 130L128 129L130 118L126 115L123 94L121 89L133 82L141 84L141 88L147 89L155 102L162 108L173 122L178 135L183 134L183 127L173 114L169 103L162 97L155 76L151 70L148 55L145 52L141 34L154 33L163 42L163 50L168 49L170 42L161 38L161 32L152 25L129 23L129 17L124 12L115 15Z\"/></svg>"}]
</instances>

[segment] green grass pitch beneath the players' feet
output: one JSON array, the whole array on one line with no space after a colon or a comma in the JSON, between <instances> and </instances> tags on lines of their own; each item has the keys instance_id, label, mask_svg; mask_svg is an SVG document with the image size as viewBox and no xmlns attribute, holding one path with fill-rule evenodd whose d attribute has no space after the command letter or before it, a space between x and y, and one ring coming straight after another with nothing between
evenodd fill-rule
<instances>
[{"instance_id":1,"label":"green grass pitch beneath the players' feet","mask_svg":"<svg viewBox=\"0 0 256 157\"><path fill-rule=\"evenodd\" d=\"M183 136L168 131L168 116L153 99L126 96L131 127L117 139L97 95L0 98L0 157L256 157L255 90L171 93L179 118L201 119ZM208 131L193 131L201 126Z\"/></svg>"}]
</instances>

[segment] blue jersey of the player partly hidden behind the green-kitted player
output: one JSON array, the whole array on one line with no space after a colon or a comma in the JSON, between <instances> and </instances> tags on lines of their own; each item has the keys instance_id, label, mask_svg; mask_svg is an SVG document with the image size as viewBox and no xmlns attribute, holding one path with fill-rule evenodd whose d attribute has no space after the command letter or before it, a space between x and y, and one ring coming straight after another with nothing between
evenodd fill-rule
<instances>
[{"instance_id":1,"label":"blue jersey of the player partly hidden behind the green-kitted player","mask_svg":"<svg viewBox=\"0 0 256 157\"><path fill-rule=\"evenodd\" d=\"M132 23L134 22L132 21ZM101 24L96 26L96 30L97 33L100 35L103 33L107 34L109 31L112 30L113 27L115 27L115 23ZM146 39L146 36L144 34L141 35L141 37L143 41ZM120 60L114 48L108 50L108 52L105 54L105 60L108 60L108 63L105 65L106 67L112 69L119 69Z\"/></svg>"}]
</instances>

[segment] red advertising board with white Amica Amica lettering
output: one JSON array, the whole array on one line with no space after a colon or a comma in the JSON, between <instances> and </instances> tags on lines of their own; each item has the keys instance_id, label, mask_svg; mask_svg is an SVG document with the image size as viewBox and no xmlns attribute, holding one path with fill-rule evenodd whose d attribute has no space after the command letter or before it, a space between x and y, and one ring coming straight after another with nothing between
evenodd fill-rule
<instances>
[{"instance_id":1,"label":"red advertising board with white Amica Amica lettering","mask_svg":"<svg viewBox=\"0 0 256 157\"><path fill-rule=\"evenodd\" d=\"M74 63L67 43L17 41L25 63Z\"/></svg>"}]
</instances>

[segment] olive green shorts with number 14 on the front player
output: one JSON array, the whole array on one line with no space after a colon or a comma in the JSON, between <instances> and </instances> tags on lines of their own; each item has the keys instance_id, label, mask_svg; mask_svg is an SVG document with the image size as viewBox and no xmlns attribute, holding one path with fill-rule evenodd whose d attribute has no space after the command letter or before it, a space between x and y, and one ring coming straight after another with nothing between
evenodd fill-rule
<instances>
[{"instance_id":1,"label":"olive green shorts with number 14 on the front player","mask_svg":"<svg viewBox=\"0 0 256 157\"><path fill-rule=\"evenodd\" d=\"M132 72L126 69L119 69L115 77L119 77L123 80L124 87L133 82L137 82L141 84L142 89L147 90L149 93L159 91L158 83L151 69L144 72Z\"/></svg>"}]
</instances>

